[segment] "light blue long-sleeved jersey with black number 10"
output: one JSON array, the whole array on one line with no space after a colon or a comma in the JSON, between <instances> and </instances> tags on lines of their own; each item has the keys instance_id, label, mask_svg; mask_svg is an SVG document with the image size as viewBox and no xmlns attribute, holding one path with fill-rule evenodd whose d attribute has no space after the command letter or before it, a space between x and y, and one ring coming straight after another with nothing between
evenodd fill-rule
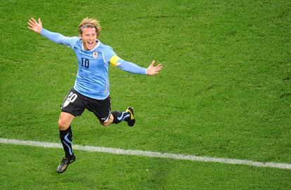
<instances>
[{"instance_id":1,"label":"light blue long-sleeved jersey with black number 10","mask_svg":"<svg viewBox=\"0 0 291 190\"><path fill-rule=\"evenodd\" d=\"M96 100L104 100L109 95L110 85L108 67L114 65L126 72L146 74L146 69L134 63L117 57L110 46L100 41L92 50L84 50L82 40L75 37L65 37L62 34L41 29L41 34L59 44L70 46L75 51L78 60L78 72L74 88L82 95Z\"/></svg>"}]
</instances>

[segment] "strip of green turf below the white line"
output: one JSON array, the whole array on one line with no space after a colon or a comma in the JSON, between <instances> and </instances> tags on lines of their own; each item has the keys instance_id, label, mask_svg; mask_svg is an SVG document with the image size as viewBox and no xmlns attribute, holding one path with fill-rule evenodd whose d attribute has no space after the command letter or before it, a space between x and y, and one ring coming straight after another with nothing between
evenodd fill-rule
<instances>
[{"instance_id":1,"label":"strip of green turf below the white line","mask_svg":"<svg viewBox=\"0 0 291 190\"><path fill-rule=\"evenodd\" d=\"M61 175L61 149L0 144L1 189L289 189L290 171L76 151ZM15 156L18 155L18 156ZM34 158L33 163L27 157ZM6 164L4 164L6 163ZM278 180L280 179L280 180ZM11 183L13 181L13 183ZM41 186L41 188L40 188Z\"/></svg>"}]
</instances>

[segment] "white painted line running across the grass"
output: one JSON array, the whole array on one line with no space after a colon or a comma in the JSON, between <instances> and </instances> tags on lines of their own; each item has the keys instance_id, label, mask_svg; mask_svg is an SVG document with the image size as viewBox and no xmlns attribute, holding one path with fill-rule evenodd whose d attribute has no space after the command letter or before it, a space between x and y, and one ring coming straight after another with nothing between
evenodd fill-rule
<instances>
[{"instance_id":1,"label":"white painted line running across the grass","mask_svg":"<svg viewBox=\"0 0 291 190\"><path fill-rule=\"evenodd\" d=\"M0 143L2 144L18 144L33 147L46 147L46 148L63 148L61 144L53 142L36 142L30 140L11 140L0 138ZM281 168L281 169L291 169L291 163L273 163L273 162L256 162L249 160L240 160L232 158L212 158L207 156L195 156L195 155L183 155L183 154L169 154L160 153L155 151L139 151L139 150L126 150L126 149L115 149L106 147L91 147L82 145L73 145L73 149L82 151L93 151L93 152L103 152L109 154L121 154L121 155L134 155L134 156L145 156L145 157L155 157L155 158L172 158L176 160L186 160L186 161L201 161L201 162L212 162L212 163L229 163L238 165L252 165L256 167L267 167L267 168Z\"/></svg>"}]
</instances>

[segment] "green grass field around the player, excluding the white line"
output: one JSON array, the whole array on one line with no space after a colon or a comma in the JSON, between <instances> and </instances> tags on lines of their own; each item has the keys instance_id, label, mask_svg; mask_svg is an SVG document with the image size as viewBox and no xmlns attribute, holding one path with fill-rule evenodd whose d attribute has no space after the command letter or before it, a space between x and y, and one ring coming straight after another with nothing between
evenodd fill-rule
<instances>
[{"instance_id":1,"label":"green grass field around the player, excluding the white line","mask_svg":"<svg viewBox=\"0 0 291 190\"><path fill-rule=\"evenodd\" d=\"M1 2L0 138L59 142L60 104L77 74L70 48L27 29L76 36L101 21L100 40L148 67L110 67L112 109L131 105L136 125L103 128L89 111L74 144L291 163L291 3L288 1ZM0 189L291 189L291 171L0 144Z\"/></svg>"}]
</instances>

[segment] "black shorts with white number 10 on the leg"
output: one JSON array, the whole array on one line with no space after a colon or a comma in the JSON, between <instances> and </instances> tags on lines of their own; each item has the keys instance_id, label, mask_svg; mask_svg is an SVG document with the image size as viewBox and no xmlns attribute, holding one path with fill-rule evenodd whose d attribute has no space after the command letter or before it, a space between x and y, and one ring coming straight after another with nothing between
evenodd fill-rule
<instances>
[{"instance_id":1,"label":"black shorts with white number 10 on the leg","mask_svg":"<svg viewBox=\"0 0 291 190\"><path fill-rule=\"evenodd\" d=\"M65 97L61 107L63 112L73 116L81 116L85 109L92 111L102 123L110 118L110 96L104 100L96 100L78 93L74 88Z\"/></svg>"}]
</instances>

